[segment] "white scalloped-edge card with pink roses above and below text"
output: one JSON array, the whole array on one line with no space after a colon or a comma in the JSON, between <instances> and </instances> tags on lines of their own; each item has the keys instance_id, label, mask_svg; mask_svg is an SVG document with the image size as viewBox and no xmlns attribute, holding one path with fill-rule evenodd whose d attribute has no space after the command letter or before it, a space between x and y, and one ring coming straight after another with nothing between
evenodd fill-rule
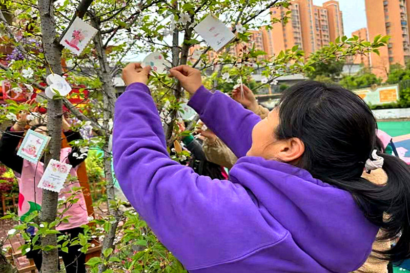
<instances>
[{"instance_id":1,"label":"white scalloped-edge card with pink roses above and below text","mask_svg":"<svg viewBox=\"0 0 410 273\"><path fill-rule=\"evenodd\" d=\"M71 165L51 159L37 187L59 193L64 187Z\"/></svg>"}]
</instances>

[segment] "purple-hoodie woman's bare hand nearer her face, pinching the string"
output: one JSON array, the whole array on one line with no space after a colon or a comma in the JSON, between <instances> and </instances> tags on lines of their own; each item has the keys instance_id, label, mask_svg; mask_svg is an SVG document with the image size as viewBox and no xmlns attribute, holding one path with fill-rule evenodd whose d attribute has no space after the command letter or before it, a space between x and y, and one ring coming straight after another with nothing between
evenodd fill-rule
<instances>
[{"instance_id":1,"label":"purple-hoodie woman's bare hand nearer her face, pinching the string","mask_svg":"<svg viewBox=\"0 0 410 273\"><path fill-rule=\"evenodd\" d=\"M201 72L190 66L174 67L170 70L170 77L175 77L181 83L183 89L191 95L202 86Z\"/></svg>"}]
</instances>

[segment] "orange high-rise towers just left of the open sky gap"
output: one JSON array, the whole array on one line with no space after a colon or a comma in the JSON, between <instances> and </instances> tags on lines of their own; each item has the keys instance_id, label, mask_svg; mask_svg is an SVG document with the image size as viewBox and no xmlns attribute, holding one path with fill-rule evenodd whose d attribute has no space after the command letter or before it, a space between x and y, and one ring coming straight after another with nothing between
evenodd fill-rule
<instances>
[{"instance_id":1,"label":"orange high-rise towers just left of the open sky gap","mask_svg":"<svg viewBox=\"0 0 410 273\"><path fill-rule=\"evenodd\" d=\"M315 6L312 0L294 0L290 9L288 24L273 25L275 52L298 45L309 55L344 35L342 12L337 1ZM283 7L272 8L271 16L282 18L287 11Z\"/></svg>"}]
</instances>

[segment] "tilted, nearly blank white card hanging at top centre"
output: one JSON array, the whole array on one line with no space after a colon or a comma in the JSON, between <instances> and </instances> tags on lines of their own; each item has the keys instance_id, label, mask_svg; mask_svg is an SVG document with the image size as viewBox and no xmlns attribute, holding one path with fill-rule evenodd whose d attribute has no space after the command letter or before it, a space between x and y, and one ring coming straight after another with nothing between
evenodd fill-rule
<instances>
[{"instance_id":1,"label":"tilted, nearly blank white card hanging at top centre","mask_svg":"<svg viewBox=\"0 0 410 273\"><path fill-rule=\"evenodd\" d=\"M210 45L215 51L219 51L227 45L235 34L227 28L218 18L208 15L199 23L194 30Z\"/></svg>"}]
</instances>

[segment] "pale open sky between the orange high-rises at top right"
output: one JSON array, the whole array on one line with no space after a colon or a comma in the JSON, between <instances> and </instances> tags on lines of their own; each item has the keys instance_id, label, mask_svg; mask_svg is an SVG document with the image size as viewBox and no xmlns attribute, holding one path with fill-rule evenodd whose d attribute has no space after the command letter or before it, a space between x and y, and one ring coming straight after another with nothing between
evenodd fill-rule
<instances>
[{"instance_id":1,"label":"pale open sky between the orange high-rises at top right","mask_svg":"<svg viewBox=\"0 0 410 273\"><path fill-rule=\"evenodd\" d=\"M313 0L313 4L321 6L327 0ZM343 12L344 35L351 36L353 31L367 27L364 0L339 0Z\"/></svg>"}]
</instances>

